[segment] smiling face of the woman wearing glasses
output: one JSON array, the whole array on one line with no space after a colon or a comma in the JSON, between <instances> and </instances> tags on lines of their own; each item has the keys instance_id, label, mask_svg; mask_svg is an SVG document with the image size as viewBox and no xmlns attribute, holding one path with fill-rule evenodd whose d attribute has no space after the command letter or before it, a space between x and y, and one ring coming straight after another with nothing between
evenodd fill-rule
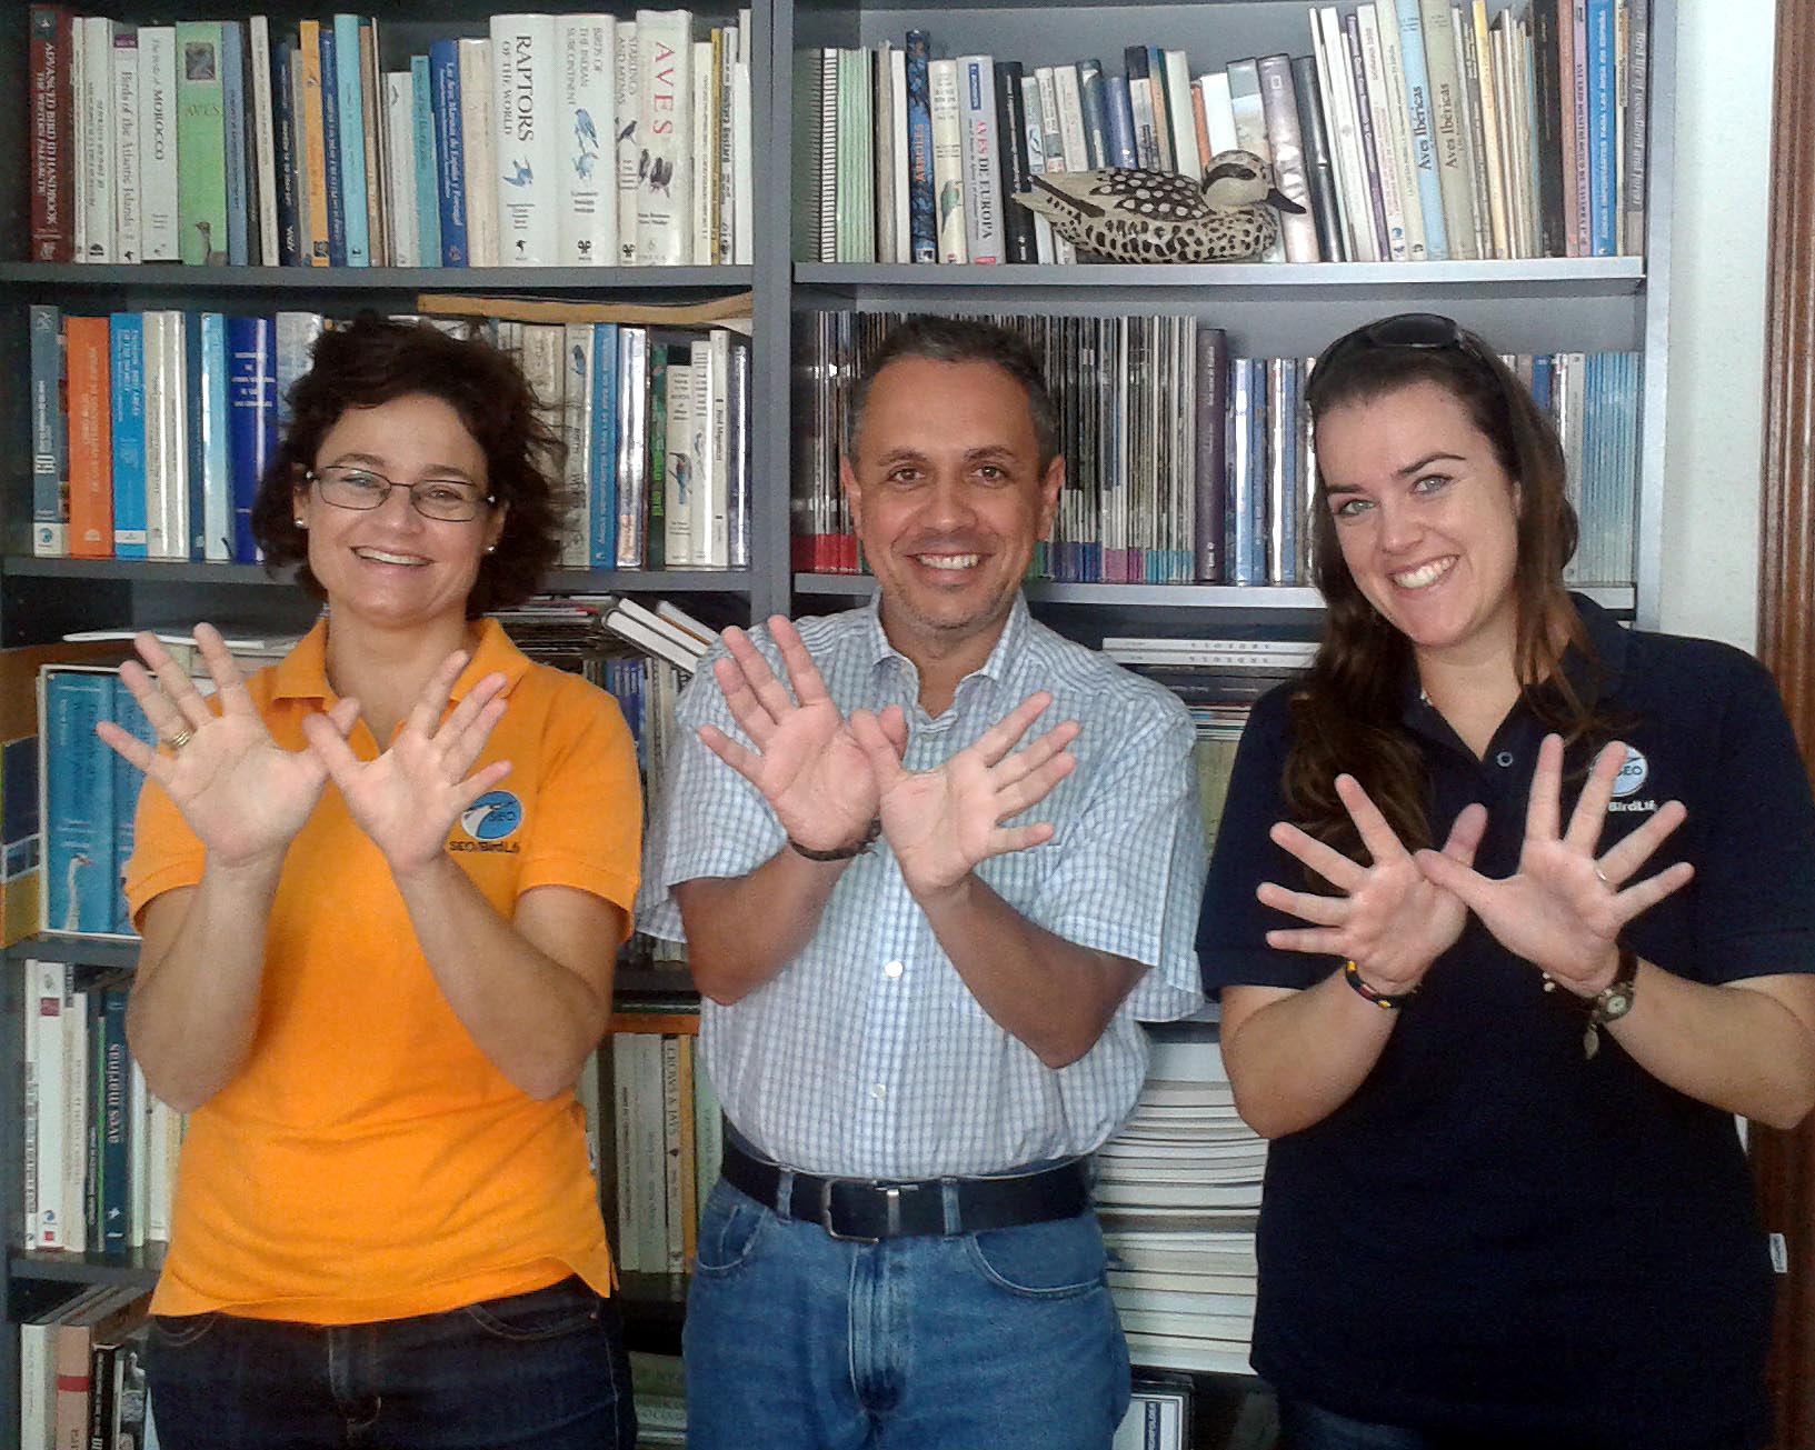
<instances>
[{"instance_id":1,"label":"smiling face of the woman wearing glasses","mask_svg":"<svg viewBox=\"0 0 1815 1450\"><path fill-rule=\"evenodd\" d=\"M446 479L486 492L485 452L459 412L428 394L348 408L321 437L314 466L365 468L405 485ZM505 528L505 512L486 506L466 523L425 519L403 488L368 510L329 503L319 485L298 488L294 503L329 610L385 628L463 622L479 561Z\"/></svg>"}]
</instances>

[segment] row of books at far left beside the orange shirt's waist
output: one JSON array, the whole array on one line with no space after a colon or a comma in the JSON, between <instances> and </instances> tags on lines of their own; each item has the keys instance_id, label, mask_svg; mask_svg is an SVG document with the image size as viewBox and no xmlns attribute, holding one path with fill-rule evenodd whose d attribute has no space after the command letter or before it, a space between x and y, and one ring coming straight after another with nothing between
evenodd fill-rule
<instances>
[{"instance_id":1,"label":"row of books at far left beside the orange shirt's waist","mask_svg":"<svg viewBox=\"0 0 1815 1450\"><path fill-rule=\"evenodd\" d=\"M171 1238L183 1116L127 1051L125 987L25 964L24 1245L123 1254Z\"/></svg>"}]
</instances>

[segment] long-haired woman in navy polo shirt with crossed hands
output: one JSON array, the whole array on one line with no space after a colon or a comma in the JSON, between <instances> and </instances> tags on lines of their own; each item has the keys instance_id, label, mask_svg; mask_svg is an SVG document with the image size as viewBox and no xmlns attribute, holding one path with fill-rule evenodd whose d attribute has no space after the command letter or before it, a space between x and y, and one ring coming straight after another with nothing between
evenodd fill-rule
<instances>
[{"instance_id":1,"label":"long-haired woman in navy polo shirt with crossed hands","mask_svg":"<svg viewBox=\"0 0 1815 1450\"><path fill-rule=\"evenodd\" d=\"M1332 343L1307 403L1325 637L1241 737L1198 936L1274 1140L1254 1367L1300 1450L1764 1445L1733 1114L1815 1103L1775 686L1565 592L1555 430L1448 318Z\"/></svg>"}]
</instances>

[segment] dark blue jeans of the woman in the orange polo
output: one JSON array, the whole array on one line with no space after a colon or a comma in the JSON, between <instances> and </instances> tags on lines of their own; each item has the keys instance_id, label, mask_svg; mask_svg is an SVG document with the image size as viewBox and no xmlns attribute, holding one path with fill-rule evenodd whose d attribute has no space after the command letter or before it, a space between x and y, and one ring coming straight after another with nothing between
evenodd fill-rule
<instances>
[{"instance_id":1,"label":"dark blue jeans of the woman in the orange polo","mask_svg":"<svg viewBox=\"0 0 1815 1450\"><path fill-rule=\"evenodd\" d=\"M568 1278L370 1325L154 1318L165 1450L633 1450L617 1303Z\"/></svg>"}]
</instances>

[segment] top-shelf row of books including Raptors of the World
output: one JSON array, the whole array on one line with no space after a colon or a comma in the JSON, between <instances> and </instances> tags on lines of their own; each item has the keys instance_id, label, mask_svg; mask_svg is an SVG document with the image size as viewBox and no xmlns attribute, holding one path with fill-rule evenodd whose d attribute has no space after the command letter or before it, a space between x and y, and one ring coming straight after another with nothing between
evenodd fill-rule
<instances>
[{"instance_id":1,"label":"top-shelf row of books including Raptors of the World","mask_svg":"<svg viewBox=\"0 0 1815 1450\"><path fill-rule=\"evenodd\" d=\"M359 15L33 5L33 260L750 263L748 9L495 15L394 49Z\"/></svg>"}]
</instances>

